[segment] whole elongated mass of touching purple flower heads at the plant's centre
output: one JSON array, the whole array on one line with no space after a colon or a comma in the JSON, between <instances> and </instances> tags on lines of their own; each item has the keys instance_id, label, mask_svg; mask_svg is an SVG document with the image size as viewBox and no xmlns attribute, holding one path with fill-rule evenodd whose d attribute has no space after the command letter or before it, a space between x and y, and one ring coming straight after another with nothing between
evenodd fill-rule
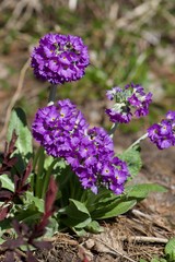
<instances>
[{"instance_id":1,"label":"whole elongated mass of touching purple flower heads at the plant's centre","mask_svg":"<svg viewBox=\"0 0 175 262\"><path fill-rule=\"evenodd\" d=\"M97 193L100 186L116 194L129 176L125 162L114 156L112 138L103 128L89 128L83 115L69 99L38 109L33 136L47 154L63 157L84 189Z\"/></svg>"}]
</instances>

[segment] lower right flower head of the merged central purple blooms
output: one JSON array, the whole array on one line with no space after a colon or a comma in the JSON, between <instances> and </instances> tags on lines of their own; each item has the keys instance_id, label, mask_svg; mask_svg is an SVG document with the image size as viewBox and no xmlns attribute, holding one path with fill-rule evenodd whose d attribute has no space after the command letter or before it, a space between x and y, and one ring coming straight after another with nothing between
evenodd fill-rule
<instances>
[{"instance_id":1,"label":"lower right flower head of the merged central purple blooms","mask_svg":"<svg viewBox=\"0 0 175 262\"><path fill-rule=\"evenodd\" d=\"M112 184L121 189L120 186L127 180L129 171L125 162L114 157L113 140L103 128L86 130L77 152L79 165L72 165L69 157L66 159L85 189L90 188L97 193L97 188L103 186L115 193L124 191L124 187L122 191L117 191Z\"/></svg>"}]
</instances>

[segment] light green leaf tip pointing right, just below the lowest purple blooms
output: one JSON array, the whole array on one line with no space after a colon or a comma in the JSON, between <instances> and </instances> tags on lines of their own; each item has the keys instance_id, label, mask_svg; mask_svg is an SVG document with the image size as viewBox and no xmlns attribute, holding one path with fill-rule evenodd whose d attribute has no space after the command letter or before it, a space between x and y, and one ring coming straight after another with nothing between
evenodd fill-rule
<instances>
[{"instance_id":1,"label":"light green leaf tip pointing right, just below the lowest purple blooms","mask_svg":"<svg viewBox=\"0 0 175 262\"><path fill-rule=\"evenodd\" d=\"M145 199L151 192L166 192L166 189L158 183L140 183L126 187L128 198Z\"/></svg>"}]
</instances>

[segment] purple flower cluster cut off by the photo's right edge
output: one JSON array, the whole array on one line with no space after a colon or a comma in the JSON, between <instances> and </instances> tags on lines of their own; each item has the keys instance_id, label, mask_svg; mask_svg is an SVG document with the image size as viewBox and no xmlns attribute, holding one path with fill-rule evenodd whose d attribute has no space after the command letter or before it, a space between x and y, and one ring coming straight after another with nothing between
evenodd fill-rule
<instances>
[{"instance_id":1,"label":"purple flower cluster cut off by the photo's right edge","mask_svg":"<svg viewBox=\"0 0 175 262\"><path fill-rule=\"evenodd\" d=\"M160 150L175 145L175 111L168 111L166 118L148 129L148 136Z\"/></svg>"}]
</instances>

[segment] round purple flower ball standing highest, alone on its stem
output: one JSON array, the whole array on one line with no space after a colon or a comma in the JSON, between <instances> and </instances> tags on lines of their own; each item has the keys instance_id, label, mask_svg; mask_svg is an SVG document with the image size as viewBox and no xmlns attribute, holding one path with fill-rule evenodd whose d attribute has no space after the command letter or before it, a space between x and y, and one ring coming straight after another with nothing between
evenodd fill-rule
<instances>
[{"instance_id":1,"label":"round purple flower ball standing highest, alone on its stem","mask_svg":"<svg viewBox=\"0 0 175 262\"><path fill-rule=\"evenodd\" d=\"M36 78L51 84L81 79L90 63L88 47L80 37L72 35L45 35L31 57Z\"/></svg>"}]
</instances>

